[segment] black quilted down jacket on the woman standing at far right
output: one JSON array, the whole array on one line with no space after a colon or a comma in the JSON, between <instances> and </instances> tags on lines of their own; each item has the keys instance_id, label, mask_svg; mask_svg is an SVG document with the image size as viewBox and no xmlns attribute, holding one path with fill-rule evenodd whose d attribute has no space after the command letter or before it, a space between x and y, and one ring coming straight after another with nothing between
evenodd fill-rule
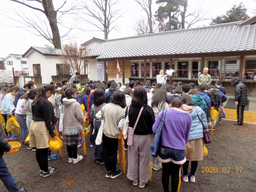
<instances>
[{"instance_id":1,"label":"black quilted down jacket on the woman standing at far right","mask_svg":"<svg viewBox=\"0 0 256 192\"><path fill-rule=\"evenodd\" d=\"M235 101L238 101L239 105L248 105L247 88L241 81L236 85Z\"/></svg>"}]
</instances>

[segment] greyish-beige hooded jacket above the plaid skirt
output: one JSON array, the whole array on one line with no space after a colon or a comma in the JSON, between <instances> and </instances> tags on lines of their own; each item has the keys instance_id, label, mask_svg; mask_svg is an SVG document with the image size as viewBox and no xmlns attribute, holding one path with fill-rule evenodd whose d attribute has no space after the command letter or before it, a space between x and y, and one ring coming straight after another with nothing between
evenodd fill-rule
<instances>
[{"instance_id":1,"label":"greyish-beige hooded jacket above the plaid skirt","mask_svg":"<svg viewBox=\"0 0 256 192\"><path fill-rule=\"evenodd\" d=\"M63 100L63 109L62 113L64 114L63 118L63 134L64 135L76 135L82 131L81 123L85 122L84 114L80 104L76 99L67 99Z\"/></svg>"}]
</instances>

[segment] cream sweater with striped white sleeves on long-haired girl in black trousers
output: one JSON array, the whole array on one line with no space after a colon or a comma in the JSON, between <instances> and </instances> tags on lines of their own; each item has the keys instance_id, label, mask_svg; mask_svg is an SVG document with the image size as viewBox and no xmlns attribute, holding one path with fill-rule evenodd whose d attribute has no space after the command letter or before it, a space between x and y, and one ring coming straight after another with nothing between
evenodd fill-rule
<instances>
[{"instance_id":1,"label":"cream sweater with striped white sleeves on long-haired girl in black trousers","mask_svg":"<svg viewBox=\"0 0 256 192\"><path fill-rule=\"evenodd\" d=\"M118 138L124 129L124 111L116 104L108 103L97 114L98 119L104 119L103 133L110 138Z\"/></svg>"}]
</instances>

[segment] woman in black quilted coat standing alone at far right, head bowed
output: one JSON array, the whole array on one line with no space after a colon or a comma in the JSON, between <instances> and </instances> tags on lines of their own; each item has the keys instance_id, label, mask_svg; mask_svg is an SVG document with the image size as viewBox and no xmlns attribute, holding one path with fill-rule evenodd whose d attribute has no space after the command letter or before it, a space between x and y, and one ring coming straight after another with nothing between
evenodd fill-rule
<instances>
[{"instance_id":1,"label":"woman in black quilted coat standing alone at far right, head bowed","mask_svg":"<svg viewBox=\"0 0 256 192\"><path fill-rule=\"evenodd\" d=\"M244 107L248 105L247 88L238 77L233 77L230 81L231 85L236 86L235 89L235 103L237 105L237 122L235 125L243 125L244 121Z\"/></svg>"}]
</instances>

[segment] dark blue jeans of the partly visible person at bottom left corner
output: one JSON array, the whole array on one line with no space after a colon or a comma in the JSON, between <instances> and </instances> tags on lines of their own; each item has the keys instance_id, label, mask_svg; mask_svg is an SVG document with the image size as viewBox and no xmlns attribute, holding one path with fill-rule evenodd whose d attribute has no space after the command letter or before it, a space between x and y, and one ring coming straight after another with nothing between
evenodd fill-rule
<instances>
[{"instance_id":1,"label":"dark blue jeans of the partly visible person at bottom left corner","mask_svg":"<svg viewBox=\"0 0 256 192\"><path fill-rule=\"evenodd\" d=\"M15 184L14 176L9 172L3 157L0 158L0 179L9 192L20 192ZM3 188L3 187L1 187Z\"/></svg>"}]
</instances>

